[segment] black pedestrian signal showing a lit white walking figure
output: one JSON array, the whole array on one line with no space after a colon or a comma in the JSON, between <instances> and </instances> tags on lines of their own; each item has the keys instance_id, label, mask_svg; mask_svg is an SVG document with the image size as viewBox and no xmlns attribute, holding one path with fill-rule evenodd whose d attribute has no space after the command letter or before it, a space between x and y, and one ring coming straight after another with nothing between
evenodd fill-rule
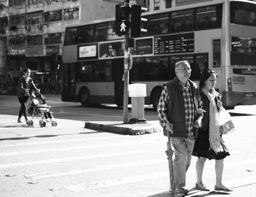
<instances>
[{"instance_id":1,"label":"black pedestrian signal showing a lit white walking figure","mask_svg":"<svg viewBox=\"0 0 256 197\"><path fill-rule=\"evenodd\" d=\"M129 15L131 14L131 7L129 4L116 5L116 35L129 35Z\"/></svg>"}]
</instances>

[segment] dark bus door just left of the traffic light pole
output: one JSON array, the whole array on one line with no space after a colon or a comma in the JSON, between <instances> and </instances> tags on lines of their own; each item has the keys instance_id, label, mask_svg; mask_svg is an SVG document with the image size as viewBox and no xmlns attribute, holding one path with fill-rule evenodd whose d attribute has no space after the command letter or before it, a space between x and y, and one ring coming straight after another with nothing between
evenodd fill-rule
<instances>
[{"instance_id":1,"label":"dark bus door just left of the traffic light pole","mask_svg":"<svg viewBox=\"0 0 256 197\"><path fill-rule=\"evenodd\" d=\"M123 106L124 103L124 82L122 80L124 74L124 60L113 60L113 81L115 82L115 103Z\"/></svg>"}]
</instances>

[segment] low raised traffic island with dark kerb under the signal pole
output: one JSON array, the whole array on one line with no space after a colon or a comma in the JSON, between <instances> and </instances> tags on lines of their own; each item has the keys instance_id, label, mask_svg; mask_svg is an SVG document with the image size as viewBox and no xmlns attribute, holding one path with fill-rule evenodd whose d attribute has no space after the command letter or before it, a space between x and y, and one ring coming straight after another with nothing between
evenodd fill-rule
<instances>
[{"instance_id":1,"label":"low raised traffic island with dark kerb under the signal pole","mask_svg":"<svg viewBox=\"0 0 256 197\"><path fill-rule=\"evenodd\" d=\"M122 122L110 121L86 122L84 128L123 135L153 134L162 131L162 127L159 125L159 121L146 121L142 123L139 122L126 124Z\"/></svg>"}]
</instances>

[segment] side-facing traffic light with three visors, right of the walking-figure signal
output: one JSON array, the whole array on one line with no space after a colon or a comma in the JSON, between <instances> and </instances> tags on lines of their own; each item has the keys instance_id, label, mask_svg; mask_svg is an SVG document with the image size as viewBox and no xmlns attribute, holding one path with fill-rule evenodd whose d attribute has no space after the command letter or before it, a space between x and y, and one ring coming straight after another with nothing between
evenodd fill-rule
<instances>
[{"instance_id":1,"label":"side-facing traffic light with three visors, right of the walking-figure signal","mask_svg":"<svg viewBox=\"0 0 256 197\"><path fill-rule=\"evenodd\" d=\"M140 31L146 32L146 29L140 28L141 21L147 21L146 18L141 18L141 11L147 9L140 5L132 5L132 17L131 17L131 36L140 37Z\"/></svg>"}]
</instances>

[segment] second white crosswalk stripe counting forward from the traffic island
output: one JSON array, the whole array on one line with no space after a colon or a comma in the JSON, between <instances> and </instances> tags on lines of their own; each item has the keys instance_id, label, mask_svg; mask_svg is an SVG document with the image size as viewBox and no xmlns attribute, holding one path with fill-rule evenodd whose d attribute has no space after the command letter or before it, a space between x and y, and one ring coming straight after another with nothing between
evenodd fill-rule
<instances>
[{"instance_id":1,"label":"second white crosswalk stripe counting forward from the traffic island","mask_svg":"<svg viewBox=\"0 0 256 197\"><path fill-rule=\"evenodd\" d=\"M157 143L157 141L154 140L148 140L146 143ZM126 146L129 144L143 144L141 141L137 142L118 142L118 143L105 143L105 144L93 144L93 145L80 145L80 146L74 146L74 147L61 147L61 148L51 148L51 149L39 149L39 150L24 150L24 151L13 151L13 152L0 152L0 156L10 156L10 155L29 155L29 154L35 154L35 153L43 153L43 152L58 152L58 151L64 151L64 150L80 150L80 149L92 149L92 148L99 148L99 147L117 147L117 146Z\"/></svg>"}]
</instances>

